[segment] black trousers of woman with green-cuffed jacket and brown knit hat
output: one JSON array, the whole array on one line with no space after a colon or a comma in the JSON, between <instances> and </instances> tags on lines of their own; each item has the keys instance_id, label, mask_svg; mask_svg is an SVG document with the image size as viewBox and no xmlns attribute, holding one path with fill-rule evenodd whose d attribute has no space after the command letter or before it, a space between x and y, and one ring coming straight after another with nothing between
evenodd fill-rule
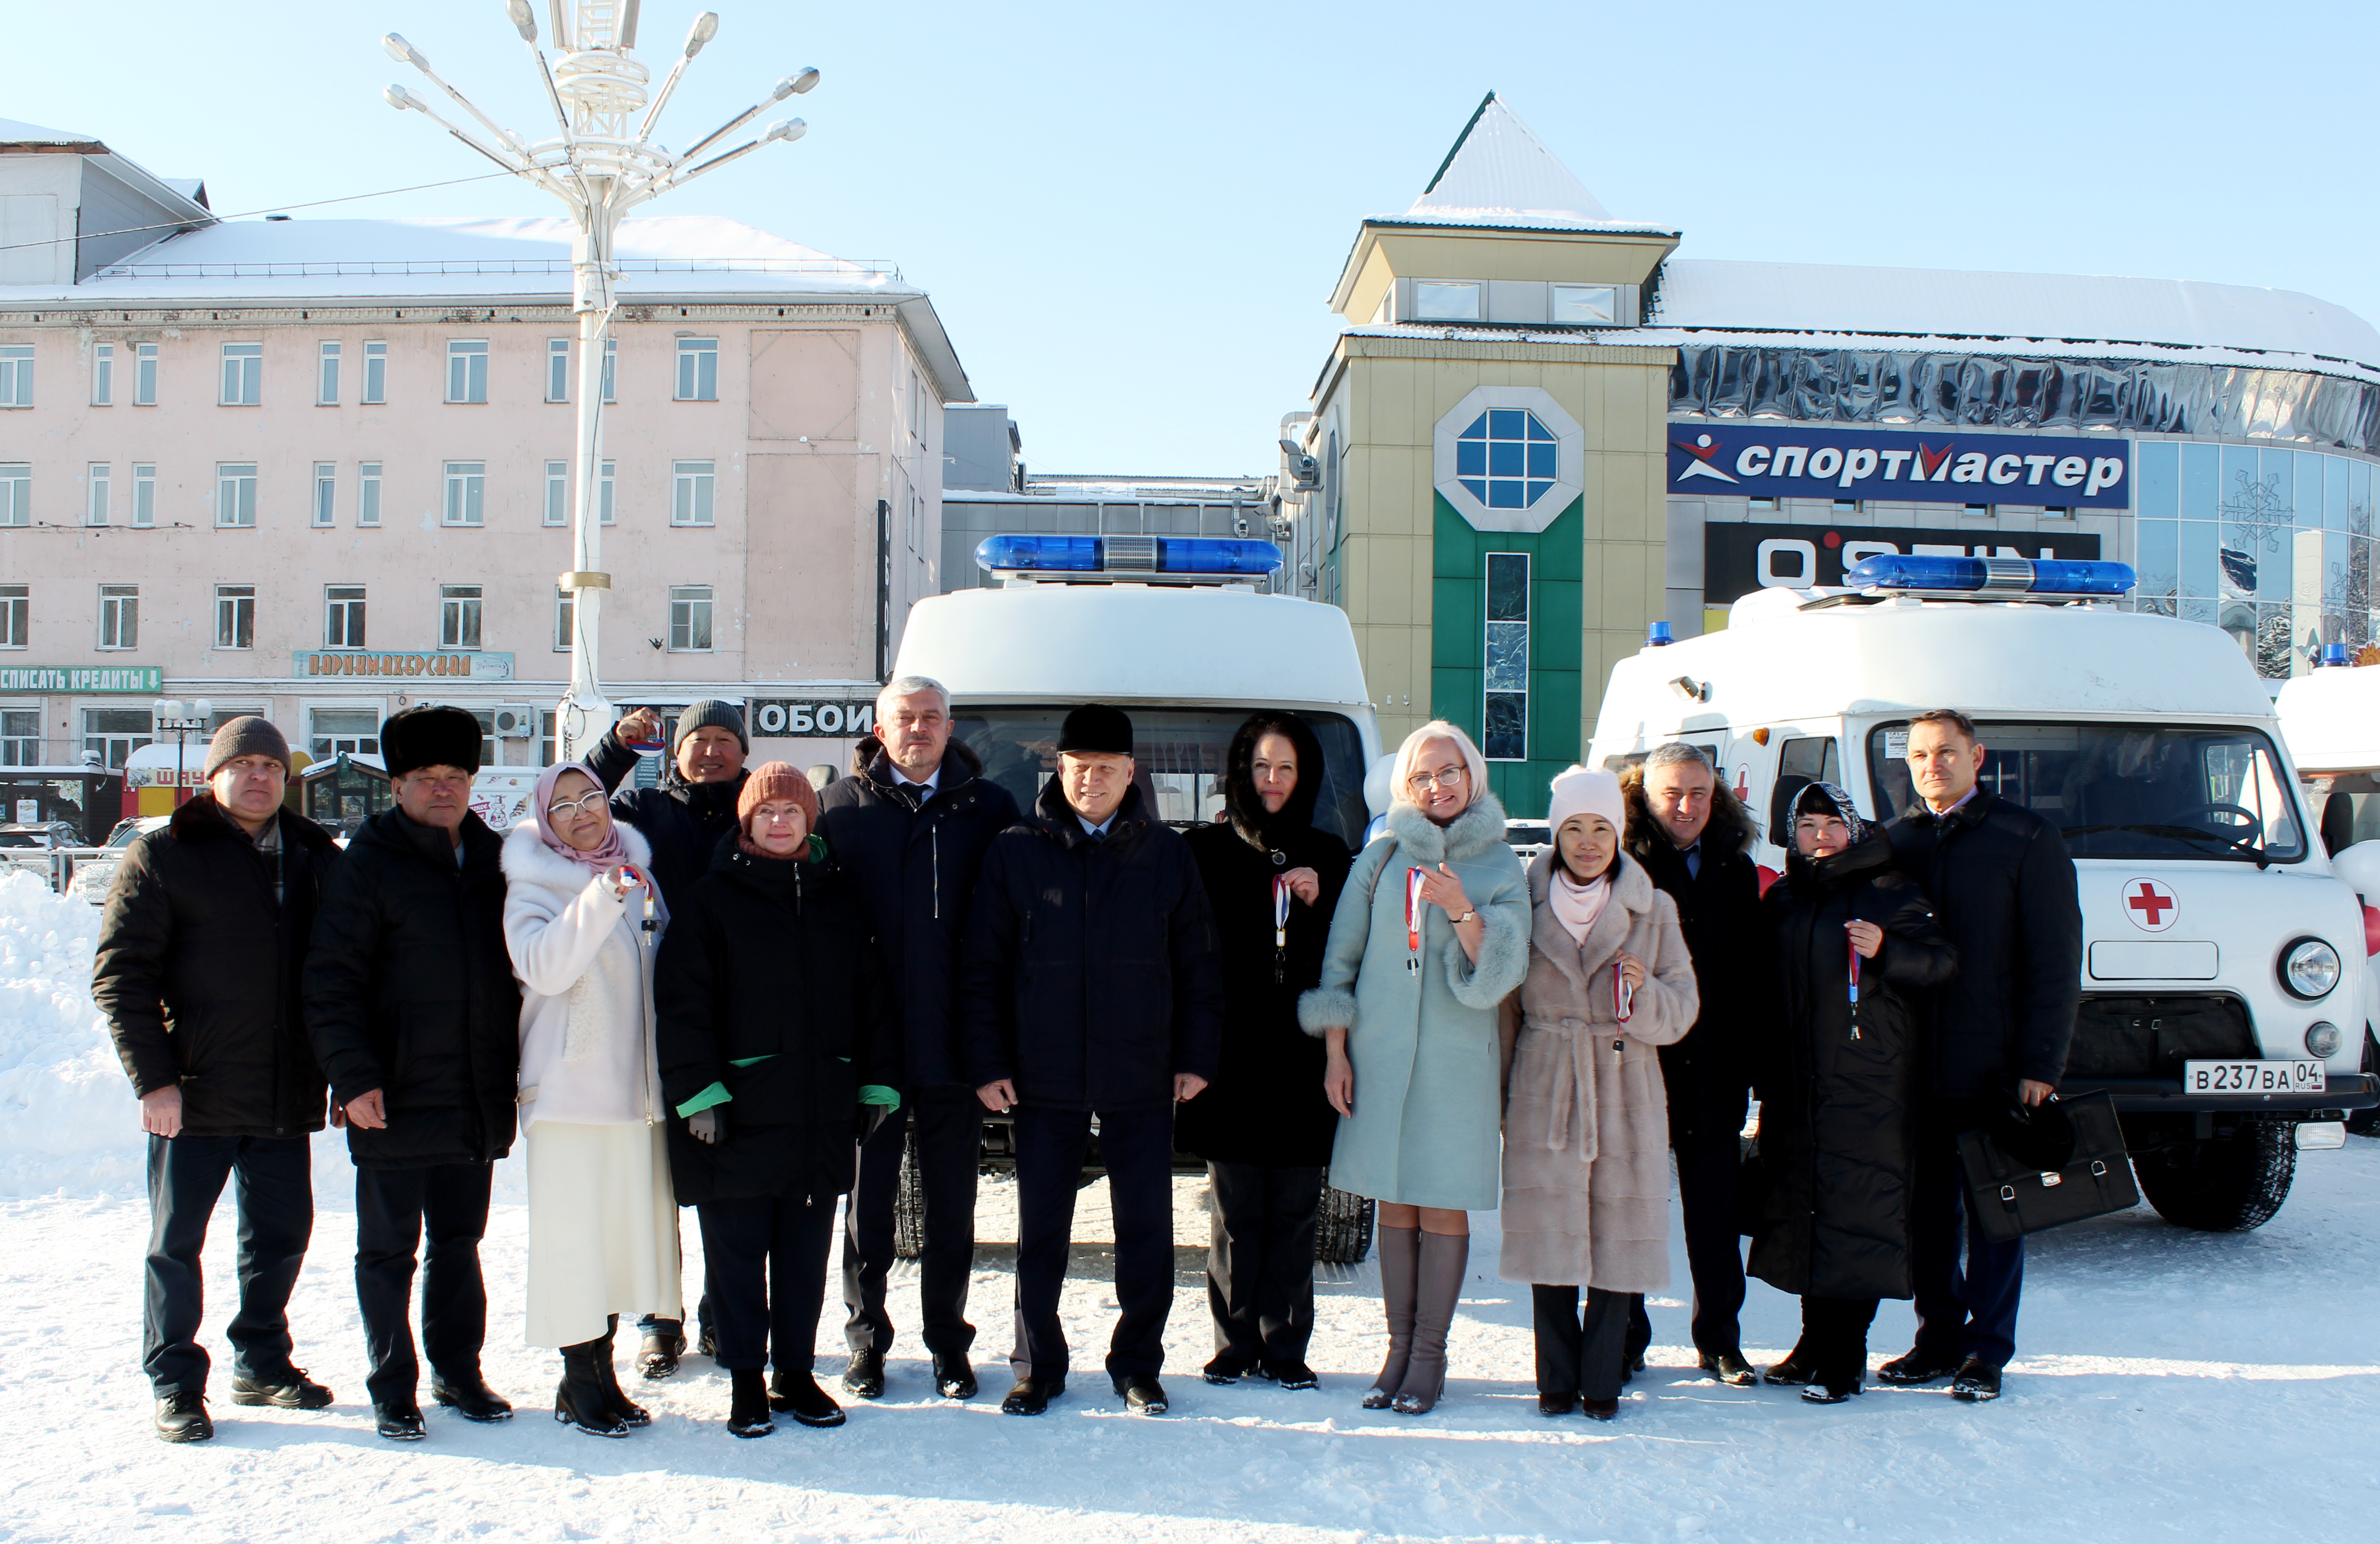
<instances>
[{"instance_id":1,"label":"black trousers of woman with green-cuffed jacket and brown knit hat","mask_svg":"<svg viewBox=\"0 0 2380 1544\"><path fill-rule=\"evenodd\" d=\"M819 1311L835 1239L835 1199L702 1201L702 1292L719 1330L719 1366L807 1373L819 1361Z\"/></svg>"}]
</instances>

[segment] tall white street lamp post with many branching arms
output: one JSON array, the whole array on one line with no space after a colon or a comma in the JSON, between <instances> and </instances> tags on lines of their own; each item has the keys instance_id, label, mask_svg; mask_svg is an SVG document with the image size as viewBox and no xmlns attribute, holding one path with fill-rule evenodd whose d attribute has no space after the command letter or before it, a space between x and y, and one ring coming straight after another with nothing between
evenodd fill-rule
<instances>
[{"instance_id":1,"label":"tall white street lamp post with many branching arms","mask_svg":"<svg viewBox=\"0 0 2380 1544\"><path fill-rule=\"evenodd\" d=\"M612 728L612 704L605 699L597 678L602 592L612 588L612 576L602 571L602 523L597 509L605 343L612 335L612 307L616 305L619 281L612 238L628 209L652 202L671 188L683 188L704 171L724 167L771 140L802 138L807 128L802 119L778 119L764 133L733 150L704 155L712 145L766 112L769 105L819 83L816 69L800 69L778 81L764 100L712 128L685 150L671 152L652 140L652 126L678 88L685 67L719 33L719 12L695 17L693 29L685 33L685 48L676 64L671 64L659 93L647 95L645 86L652 74L633 52L638 5L640 0L547 0L555 50L547 57L547 50L538 43L538 17L531 2L505 0L505 14L538 62L538 79L555 112L557 136L536 143L505 128L447 86L431 69L428 59L421 57L419 48L397 33L381 38L381 48L393 59L419 69L431 86L471 114L495 143L490 145L486 138L455 126L402 86L390 86L381 93L390 107L419 112L505 171L552 193L569 209L571 224L578 228L571 240L571 309L578 312L578 450L571 471L571 569L555 580L562 590L571 592L571 685L555 711L555 754L559 761L585 757L595 749L595 740ZM631 128L638 109L645 117Z\"/></svg>"}]
</instances>

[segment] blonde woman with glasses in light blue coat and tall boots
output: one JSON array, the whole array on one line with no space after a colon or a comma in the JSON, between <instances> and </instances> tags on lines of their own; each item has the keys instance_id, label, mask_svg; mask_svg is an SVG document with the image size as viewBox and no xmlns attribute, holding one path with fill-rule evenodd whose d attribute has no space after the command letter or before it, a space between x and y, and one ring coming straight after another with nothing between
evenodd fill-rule
<instances>
[{"instance_id":1,"label":"blonde woman with glasses in light blue coat and tall boots","mask_svg":"<svg viewBox=\"0 0 2380 1544\"><path fill-rule=\"evenodd\" d=\"M1421 1416L1447 1380L1471 1211L1495 1211L1497 1006L1528 971L1528 880L1471 735L1423 723L1397 749L1388 833L1330 918L1297 1023L1323 1040L1340 1113L1330 1185L1380 1204L1388 1361L1364 1408Z\"/></svg>"}]
</instances>

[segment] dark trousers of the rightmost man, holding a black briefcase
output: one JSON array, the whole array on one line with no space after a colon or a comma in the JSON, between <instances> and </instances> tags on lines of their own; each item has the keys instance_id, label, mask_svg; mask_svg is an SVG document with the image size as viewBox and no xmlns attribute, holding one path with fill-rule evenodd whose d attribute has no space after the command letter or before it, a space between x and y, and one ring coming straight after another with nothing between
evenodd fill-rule
<instances>
[{"instance_id":1,"label":"dark trousers of the rightmost man, holding a black briefcase","mask_svg":"<svg viewBox=\"0 0 2380 1544\"><path fill-rule=\"evenodd\" d=\"M1909 1270L1916 1278L1918 1349L1975 1356L1994 1368L2016 1356L2016 1306L2025 1289L2025 1239L1994 1242L1966 1211L1959 1132L1985 1121L1980 1099L1935 1099L1918 1116L1916 1187L1909 1197ZM1961 1235L1966 1235L1961 1239ZM1959 1247L1966 1244L1966 1261Z\"/></svg>"}]
</instances>

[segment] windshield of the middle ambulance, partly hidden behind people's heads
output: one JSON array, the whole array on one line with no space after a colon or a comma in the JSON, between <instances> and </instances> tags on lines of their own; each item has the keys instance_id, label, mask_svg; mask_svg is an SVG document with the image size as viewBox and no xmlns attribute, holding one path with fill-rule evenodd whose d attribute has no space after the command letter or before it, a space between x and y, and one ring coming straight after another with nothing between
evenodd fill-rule
<instances>
[{"instance_id":1,"label":"windshield of the middle ambulance, partly hidden behind people's heads","mask_svg":"<svg viewBox=\"0 0 2380 1544\"><path fill-rule=\"evenodd\" d=\"M983 776L1007 787L1016 806L1033 809L1057 771L1057 730L1073 704L959 707L952 733L983 757ZM1157 709L1126 707L1133 716L1133 780L1166 826L1202 826L1223 809L1223 754L1254 707ZM1364 740L1338 714L1297 714L1323 745L1323 787L1314 823L1364 845Z\"/></svg>"}]
</instances>

